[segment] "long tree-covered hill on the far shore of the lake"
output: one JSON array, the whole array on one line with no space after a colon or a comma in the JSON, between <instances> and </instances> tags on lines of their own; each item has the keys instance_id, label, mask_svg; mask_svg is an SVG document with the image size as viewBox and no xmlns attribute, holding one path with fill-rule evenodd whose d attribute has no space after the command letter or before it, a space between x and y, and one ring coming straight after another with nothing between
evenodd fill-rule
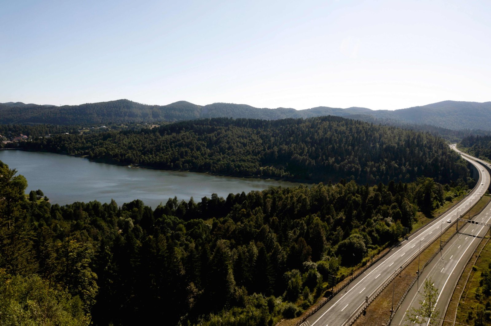
<instances>
[{"instance_id":1,"label":"long tree-covered hill on the far shore of the lake","mask_svg":"<svg viewBox=\"0 0 491 326\"><path fill-rule=\"evenodd\" d=\"M441 138L335 116L309 119L213 118L141 131L57 135L27 149L109 162L221 174L376 184L430 177L465 178Z\"/></svg>"}]
</instances>

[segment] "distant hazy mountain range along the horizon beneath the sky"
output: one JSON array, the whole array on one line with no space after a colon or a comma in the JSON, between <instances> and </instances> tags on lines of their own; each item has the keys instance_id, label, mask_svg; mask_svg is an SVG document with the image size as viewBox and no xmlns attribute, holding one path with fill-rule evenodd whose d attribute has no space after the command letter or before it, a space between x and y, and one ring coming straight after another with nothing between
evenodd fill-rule
<instances>
[{"instance_id":1,"label":"distant hazy mountain range along the horizon beneath the sky","mask_svg":"<svg viewBox=\"0 0 491 326\"><path fill-rule=\"evenodd\" d=\"M491 130L491 102L443 101L398 110L316 107L254 108L246 104L214 103L205 106L179 101L168 105L145 105L129 100L87 103L77 106L37 105L22 102L0 104L0 123L111 124L182 121L233 117L257 119L308 118L337 115L389 124L427 124L451 130Z\"/></svg>"}]
</instances>

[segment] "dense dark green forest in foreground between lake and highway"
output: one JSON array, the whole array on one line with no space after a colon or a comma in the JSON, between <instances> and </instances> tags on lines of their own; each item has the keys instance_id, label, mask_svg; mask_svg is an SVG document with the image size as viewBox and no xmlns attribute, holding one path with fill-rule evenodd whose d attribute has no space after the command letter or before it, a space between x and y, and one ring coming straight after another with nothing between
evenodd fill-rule
<instances>
[{"instance_id":1,"label":"dense dark green forest in foreground between lake and highway","mask_svg":"<svg viewBox=\"0 0 491 326\"><path fill-rule=\"evenodd\" d=\"M467 191L342 180L152 210L27 199L15 174L0 163L0 325L12 326L274 325L323 295L329 274L398 241L417 210Z\"/></svg>"}]
</instances>

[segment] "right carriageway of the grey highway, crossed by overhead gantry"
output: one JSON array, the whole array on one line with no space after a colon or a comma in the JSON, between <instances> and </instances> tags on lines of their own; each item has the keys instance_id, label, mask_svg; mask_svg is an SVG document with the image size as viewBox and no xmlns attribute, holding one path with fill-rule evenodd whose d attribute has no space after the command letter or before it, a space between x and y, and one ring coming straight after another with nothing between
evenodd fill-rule
<instances>
[{"instance_id":1,"label":"right carriageway of the grey highway, crossed by overhead gantry","mask_svg":"<svg viewBox=\"0 0 491 326\"><path fill-rule=\"evenodd\" d=\"M455 149L455 146L453 146ZM470 156L465 155L465 159ZM481 160L479 160L481 161ZM482 161L481 161L482 162ZM485 162L484 162L485 163ZM488 163L485 163L488 165ZM482 167L481 170L487 169ZM481 171L482 172L482 171ZM484 184L484 185L481 185ZM490 185L489 175L483 178L481 183L478 183L481 187L486 186L488 189ZM474 221L482 223L491 223L491 203L477 217L473 218ZM476 250L482 237L489 231L489 226L476 225L472 223L466 223L462 228L459 235L450 240L447 245L442 249L440 255L436 256L433 261L426 267L421 273L419 287L415 284L408 293L408 296L404 299L401 307L396 312L392 319L391 325L414 325L406 322L406 312L409 307L418 308L420 306L419 300L421 299L421 293L423 291L424 279L431 277L434 281L435 287L438 289L438 299L436 300L436 310L440 312L440 318L445 315L448 303L452 297L452 293L455 289L457 282L467 264L467 261Z\"/></svg>"}]
</instances>

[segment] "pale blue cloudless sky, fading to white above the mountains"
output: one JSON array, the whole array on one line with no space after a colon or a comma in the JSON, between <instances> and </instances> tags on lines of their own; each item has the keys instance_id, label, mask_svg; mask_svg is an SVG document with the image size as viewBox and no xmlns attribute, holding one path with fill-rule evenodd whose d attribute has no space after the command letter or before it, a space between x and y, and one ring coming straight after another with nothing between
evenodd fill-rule
<instances>
[{"instance_id":1,"label":"pale blue cloudless sky, fading to white above the mountains","mask_svg":"<svg viewBox=\"0 0 491 326\"><path fill-rule=\"evenodd\" d=\"M489 0L2 1L0 102L486 102L490 9Z\"/></svg>"}]
</instances>

